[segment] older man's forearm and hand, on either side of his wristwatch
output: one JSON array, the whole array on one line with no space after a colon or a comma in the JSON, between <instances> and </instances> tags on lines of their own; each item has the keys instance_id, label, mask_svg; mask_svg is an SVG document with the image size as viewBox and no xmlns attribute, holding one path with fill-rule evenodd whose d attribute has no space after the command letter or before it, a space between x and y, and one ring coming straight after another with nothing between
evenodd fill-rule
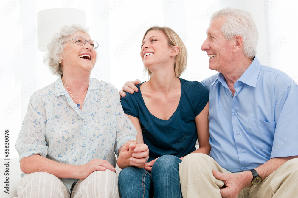
<instances>
[{"instance_id":1,"label":"older man's forearm and hand, on either side of his wristwatch","mask_svg":"<svg viewBox=\"0 0 298 198\"><path fill-rule=\"evenodd\" d=\"M283 165L283 163L297 157L298 156L271 158L266 163L255 168L255 170L258 172L262 180L264 180L268 175ZM226 188L220 190L221 197L238 197L243 188L252 185L251 181L253 177L251 171L244 171L241 173L220 173L213 170L213 175L215 178L223 180L226 186Z\"/></svg>"}]
</instances>

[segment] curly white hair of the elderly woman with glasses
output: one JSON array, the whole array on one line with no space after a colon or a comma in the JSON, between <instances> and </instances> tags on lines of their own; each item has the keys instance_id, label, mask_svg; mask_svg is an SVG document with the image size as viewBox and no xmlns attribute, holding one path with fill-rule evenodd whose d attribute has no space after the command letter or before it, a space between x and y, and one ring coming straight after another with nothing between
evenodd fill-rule
<instances>
[{"instance_id":1,"label":"curly white hair of the elderly woman with glasses","mask_svg":"<svg viewBox=\"0 0 298 198\"><path fill-rule=\"evenodd\" d=\"M70 35L77 31L87 33L88 28L83 28L80 24L65 25L59 33L55 33L51 41L47 45L48 52L44 55L44 64L47 64L55 75L62 75L62 65L59 60L63 59L62 52L64 50L64 41L67 41Z\"/></svg>"}]
</instances>

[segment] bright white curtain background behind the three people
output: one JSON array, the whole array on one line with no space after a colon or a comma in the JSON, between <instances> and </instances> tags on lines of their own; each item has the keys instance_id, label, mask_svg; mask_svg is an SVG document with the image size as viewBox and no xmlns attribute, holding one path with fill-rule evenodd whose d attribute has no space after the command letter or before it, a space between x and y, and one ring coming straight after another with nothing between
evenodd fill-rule
<instances>
[{"instance_id":1,"label":"bright white curtain background behind the three people","mask_svg":"<svg viewBox=\"0 0 298 198\"><path fill-rule=\"evenodd\" d=\"M215 74L200 47L213 12L236 7L254 15L259 30L257 57L298 81L297 1L278 0L2 0L1 1L1 131L10 130L10 157L18 157L14 144L27 111L30 95L57 79L42 63L37 50L37 12L70 7L86 11L91 38L99 43L100 55L91 77L108 81L121 89L125 81L143 75L140 44L145 31L168 26L183 39L188 66L181 76L201 81ZM4 143L4 135L0 136ZM3 152L3 150L1 150Z\"/></svg>"}]
</instances>

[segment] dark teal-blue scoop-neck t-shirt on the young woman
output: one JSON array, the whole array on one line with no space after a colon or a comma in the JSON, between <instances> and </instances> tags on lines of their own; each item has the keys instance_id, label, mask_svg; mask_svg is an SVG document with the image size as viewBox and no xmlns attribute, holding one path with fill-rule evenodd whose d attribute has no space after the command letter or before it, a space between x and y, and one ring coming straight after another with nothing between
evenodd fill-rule
<instances>
[{"instance_id":1,"label":"dark teal-blue scoop-neck t-shirt on the young woman","mask_svg":"<svg viewBox=\"0 0 298 198\"><path fill-rule=\"evenodd\" d=\"M149 112L139 87L141 84L137 85L138 92L126 92L126 96L121 98L124 112L139 118L144 143L149 148L148 161L166 154L183 157L195 151L198 138L195 117L206 106L209 92L197 81L180 78L180 83L179 105L168 120L159 119Z\"/></svg>"}]
</instances>

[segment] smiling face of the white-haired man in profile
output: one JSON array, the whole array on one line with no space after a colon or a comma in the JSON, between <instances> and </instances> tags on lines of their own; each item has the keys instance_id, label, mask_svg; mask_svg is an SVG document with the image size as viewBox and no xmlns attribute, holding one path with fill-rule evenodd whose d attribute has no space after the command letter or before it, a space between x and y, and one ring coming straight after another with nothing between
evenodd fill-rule
<instances>
[{"instance_id":1,"label":"smiling face of the white-haired man in profile","mask_svg":"<svg viewBox=\"0 0 298 198\"><path fill-rule=\"evenodd\" d=\"M207 52L209 68L218 72L226 72L229 63L232 61L233 44L226 41L221 32L224 18L215 18L210 22L207 29L207 39L201 46L201 50Z\"/></svg>"}]
</instances>

